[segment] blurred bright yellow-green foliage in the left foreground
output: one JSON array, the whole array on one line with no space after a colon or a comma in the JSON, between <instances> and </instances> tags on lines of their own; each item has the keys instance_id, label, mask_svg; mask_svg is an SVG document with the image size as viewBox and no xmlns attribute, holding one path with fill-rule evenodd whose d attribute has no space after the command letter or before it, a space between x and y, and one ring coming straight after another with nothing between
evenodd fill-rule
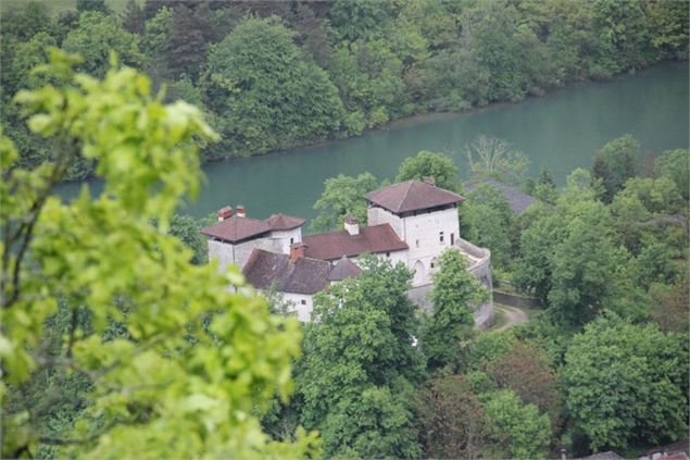
<instances>
[{"instance_id":1,"label":"blurred bright yellow-green foliage in the left foreground","mask_svg":"<svg viewBox=\"0 0 690 460\"><path fill-rule=\"evenodd\" d=\"M17 96L52 161L17 167L0 139L3 457L305 455L313 438L272 442L251 415L287 396L297 324L228 294L236 269L192 265L166 234L215 133L135 70L101 82L78 62L53 50L43 72L61 84ZM77 151L99 160L104 190L63 203L51 191Z\"/></svg>"}]
</instances>

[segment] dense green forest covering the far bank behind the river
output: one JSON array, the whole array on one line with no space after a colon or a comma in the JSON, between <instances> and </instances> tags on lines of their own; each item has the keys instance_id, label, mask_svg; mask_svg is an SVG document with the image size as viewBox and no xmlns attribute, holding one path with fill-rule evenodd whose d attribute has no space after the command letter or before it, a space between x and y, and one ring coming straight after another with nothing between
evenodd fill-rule
<instances>
[{"instance_id":1,"label":"dense green forest covering the far bank behind the river","mask_svg":"<svg viewBox=\"0 0 690 460\"><path fill-rule=\"evenodd\" d=\"M43 82L47 49L102 77L110 51L165 99L201 108L219 142L202 160L355 136L430 111L519 101L570 82L688 59L688 5L657 0L104 0L4 9L0 123L33 167L50 157L12 96ZM54 9L52 9L54 10ZM54 14L50 14L54 13ZM95 164L78 158L67 179Z\"/></svg>"}]
</instances>

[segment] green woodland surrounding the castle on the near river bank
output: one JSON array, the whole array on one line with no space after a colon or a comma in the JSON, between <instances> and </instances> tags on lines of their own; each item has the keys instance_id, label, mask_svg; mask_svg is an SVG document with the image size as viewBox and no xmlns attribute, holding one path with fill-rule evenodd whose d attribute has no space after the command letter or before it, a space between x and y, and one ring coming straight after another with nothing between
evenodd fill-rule
<instances>
[{"instance_id":1,"label":"green woodland surrounding the castle on the near river bank","mask_svg":"<svg viewBox=\"0 0 690 460\"><path fill-rule=\"evenodd\" d=\"M633 137L613 139L563 189L545 169L525 177L527 158L505 141L480 137L466 154L471 182L537 198L517 215L480 185L459 219L461 235L491 249L494 283L544 309L504 332L472 331L467 306L488 293L457 252L439 261L430 315L410 304L404 268L371 260L357 282L315 300L296 396L275 401L267 432L317 428L327 458L635 457L686 439L690 150L642 156ZM463 191L453 161L429 151L396 182L428 176ZM313 227L365 221L362 197L379 187L368 173L326 181Z\"/></svg>"}]
</instances>

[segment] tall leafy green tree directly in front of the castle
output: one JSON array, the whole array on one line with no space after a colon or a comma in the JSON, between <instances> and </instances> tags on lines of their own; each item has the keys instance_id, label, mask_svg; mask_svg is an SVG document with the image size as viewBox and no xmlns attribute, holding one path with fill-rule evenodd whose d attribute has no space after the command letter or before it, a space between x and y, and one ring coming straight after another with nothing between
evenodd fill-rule
<instances>
[{"instance_id":1,"label":"tall leafy green tree directly in front of the castle","mask_svg":"<svg viewBox=\"0 0 690 460\"><path fill-rule=\"evenodd\" d=\"M424 365L410 281L402 264L369 258L359 279L314 300L297 382L304 425L322 430L327 456L418 457L410 399Z\"/></svg>"}]
</instances>

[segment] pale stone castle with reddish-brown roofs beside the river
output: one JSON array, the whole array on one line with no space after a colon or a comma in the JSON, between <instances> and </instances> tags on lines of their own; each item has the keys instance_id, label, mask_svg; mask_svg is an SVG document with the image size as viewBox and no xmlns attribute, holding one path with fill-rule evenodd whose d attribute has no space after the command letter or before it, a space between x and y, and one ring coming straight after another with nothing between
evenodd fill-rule
<instances>
[{"instance_id":1,"label":"pale stone castle with reddish-brown roofs beside the river","mask_svg":"<svg viewBox=\"0 0 690 460\"><path fill-rule=\"evenodd\" d=\"M294 309L300 321L310 321L313 296L361 269L357 257L373 253L391 263L402 262L413 273L410 297L429 310L437 258L448 248L466 256L467 270L491 291L491 254L460 237L457 206L464 198L436 187L432 179L407 181L365 195L367 226L344 219L339 232L302 235L304 219L274 214L266 220L248 217L238 206L218 211L218 223L203 228L209 237L209 259L225 271L235 263L259 290L274 286ZM493 315L493 303L475 308L475 324L484 327Z\"/></svg>"}]
</instances>

